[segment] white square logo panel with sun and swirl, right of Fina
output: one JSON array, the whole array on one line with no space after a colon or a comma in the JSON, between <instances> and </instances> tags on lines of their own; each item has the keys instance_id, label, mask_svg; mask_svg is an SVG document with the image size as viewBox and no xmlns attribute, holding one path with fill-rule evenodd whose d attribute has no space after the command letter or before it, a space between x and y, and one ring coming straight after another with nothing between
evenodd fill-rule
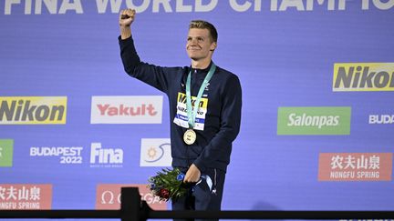
<instances>
[{"instance_id":1,"label":"white square logo panel with sun and swirl, right of Fina","mask_svg":"<svg viewBox=\"0 0 394 221\"><path fill-rule=\"evenodd\" d=\"M140 166L171 166L171 162L170 139L141 139Z\"/></svg>"}]
</instances>

